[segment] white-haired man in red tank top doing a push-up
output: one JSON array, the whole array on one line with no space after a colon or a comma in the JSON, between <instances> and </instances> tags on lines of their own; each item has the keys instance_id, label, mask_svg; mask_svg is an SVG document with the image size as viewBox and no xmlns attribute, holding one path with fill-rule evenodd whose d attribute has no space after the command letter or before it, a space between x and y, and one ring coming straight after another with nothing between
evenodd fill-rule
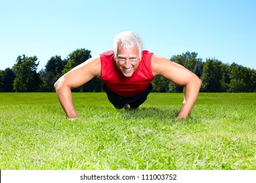
<instances>
[{"instance_id":1,"label":"white-haired man in red tank top doing a push-up","mask_svg":"<svg viewBox=\"0 0 256 183\"><path fill-rule=\"evenodd\" d=\"M152 80L161 75L185 86L184 101L175 120L186 118L196 103L200 78L177 63L142 51L140 38L131 31L114 38L114 50L88 59L54 84L58 99L68 118L79 118L72 102L72 88L77 88L95 76L104 82L103 89L116 108L139 108L152 90Z\"/></svg>"}]
</instances>

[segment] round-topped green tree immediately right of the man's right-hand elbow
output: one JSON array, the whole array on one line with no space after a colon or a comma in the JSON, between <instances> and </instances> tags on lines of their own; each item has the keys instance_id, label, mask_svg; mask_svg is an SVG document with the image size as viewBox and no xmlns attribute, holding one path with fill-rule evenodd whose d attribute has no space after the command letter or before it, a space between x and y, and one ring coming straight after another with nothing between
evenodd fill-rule
<instances>
[{"instance_id":1,"label":"round-topped green tree immediately right of the man's right-hand elbow","mask_svg":"<svg viewBox=\"0 0 256 183\"><path fill-rule=\"evenodd\" d=\"M217 59L207 59L203 63L202 92L221 91L221 64Z\"/></svg>"}]
</instances>

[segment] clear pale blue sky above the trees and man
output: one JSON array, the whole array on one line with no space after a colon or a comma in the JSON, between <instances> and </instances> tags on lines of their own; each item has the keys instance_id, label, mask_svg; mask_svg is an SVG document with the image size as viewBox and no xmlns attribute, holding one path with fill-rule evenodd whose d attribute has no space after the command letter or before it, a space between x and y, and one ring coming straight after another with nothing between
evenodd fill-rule
<instances>
[{"instance_id":1,"label":"clear pale blue sky above the trees and man","mask_svg":"<svg viewBox=\"0 0 256 183\"><path fill-rule=\"evenodd\" d=\"M0 0L0 69L22 54L38 69L77 48L96 56L120 31L135 31L144 49L165 58L197 52L256 69L254 0Z\"/></svg>"}]
</instances>

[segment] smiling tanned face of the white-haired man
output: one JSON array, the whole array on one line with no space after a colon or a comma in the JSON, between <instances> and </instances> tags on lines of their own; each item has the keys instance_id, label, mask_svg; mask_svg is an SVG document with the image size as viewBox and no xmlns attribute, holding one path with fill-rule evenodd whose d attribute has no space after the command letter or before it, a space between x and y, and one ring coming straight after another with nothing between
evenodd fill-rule
<instances>
[{"instance_id":1,"label":"smiling tanned face of the white-haired man","mask_svg":"<svg viewBox=\"0 0 256 183\"><path fill-rule=\"evenodd\" d=\"M140 63L140 54L138 46L133 48L123 48L119 45L117 47L116 65L123 74L123 76L129 78L136 71Z\"/></svg>"}]
</instances>

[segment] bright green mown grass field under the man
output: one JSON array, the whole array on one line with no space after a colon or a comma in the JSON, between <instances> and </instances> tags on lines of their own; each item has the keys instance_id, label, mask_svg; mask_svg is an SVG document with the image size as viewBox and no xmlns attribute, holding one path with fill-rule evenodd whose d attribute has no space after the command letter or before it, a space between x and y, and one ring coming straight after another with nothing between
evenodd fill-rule
<instances>
[{"instance_id":1,"label":"bright green mown grass field under the man","mask_svg":"<svg viewBox=\"0 0 256 183\"><path fill-rule=\"evenodd\" d=\"M150 93L116 110L105 93L0 93L0 169L256 169L256 93L200 93L174 121L182 93Z\"/></svg>"}]
</instances>

